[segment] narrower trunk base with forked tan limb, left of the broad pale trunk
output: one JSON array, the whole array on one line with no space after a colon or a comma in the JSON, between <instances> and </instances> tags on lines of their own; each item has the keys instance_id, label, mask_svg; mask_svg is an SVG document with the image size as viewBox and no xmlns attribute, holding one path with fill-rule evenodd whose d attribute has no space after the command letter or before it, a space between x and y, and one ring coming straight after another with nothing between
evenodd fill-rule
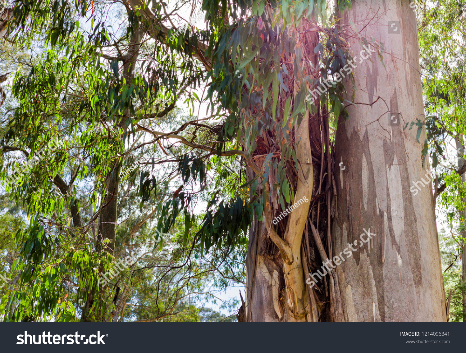
<instances>
[{"instance_id":1,"label":"narrower trunk base with forked tan limb, left of the broad pale trunk","mask_svg":"<svg viewBox=\"0 0 466 353\"><path fill-rule=\"evenodd\" d=\"M312 194L313 167L310 163L312 157L308 122L307 111L302 123L295 126L295 133L302 138L296 148L296 157L303 168L292 203L303 197L310 198ZM252 179L252 170L248 169L247 173L248 178ZM249 229L245 320L313 321L309 311L301 246L309 204L302 204L291 213L284 230L280 231L278 227L275 229L267 187L268 183L263 191L263 221L254 217Z\"/></svg>"}]
</instances>

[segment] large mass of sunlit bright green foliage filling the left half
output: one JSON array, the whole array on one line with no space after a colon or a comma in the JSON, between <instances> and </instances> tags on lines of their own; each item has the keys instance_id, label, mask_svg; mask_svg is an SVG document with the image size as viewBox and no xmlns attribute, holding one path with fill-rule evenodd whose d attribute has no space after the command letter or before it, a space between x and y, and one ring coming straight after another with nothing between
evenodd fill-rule
<instances>
[{"instance_id":1,"label":"large mass of sunlit bright green foliage filling the left half","mask_svg":"<svg viewBox=\"0 0 466 353\"><path fill-rule=\"evenodd\" d=\"M141 26L160 25L160 4L152 8L156 12L152 24L142 19L139 10L129 10L122 21L123 31L114 30L106 22L104 14L108 9L104 4L39 1L21 5L14 9L11 39L23 48L38 39L42 48L30 70L16 73L12 94L17 105L14 116L2 126L6 133L1 147L8 150L13 146L21 152L4 156L1 176L7 178L12 167L32 165L7 187L31 222L16 238L21 256L11 273L21 275L2 298L4 320L78 320L84 308L80 303L85 303L88 311L86 320L108 319L117 306L110 304L111 299L122 282L127 285L123 299L144 303L145 307L128 309L122 314L125 320L153 319L152 315L163 318L166 312L177 309L182 311L178 319L195 319L194 306L180 298L202 292L204 283L221 266L202 257L190 258L192 231L199 231L199 218L189 213L184 216L180 211L193 207L193 197L185 192L167 195L170 183L163 172L154 168L154 160L152 170L138 168L121 181L121 190L124 186L126 192L117 195L118 221L122 225L117 228L114 245L110 239L98 243L96 232L99 222L117 221L102 218L111 176L135 157L137 149L144 150L143 155L155 150L134 148L142 136L137 131L140 124L175 125L179 117L171 110L180 95L192 106L199 101L197 95L185 91L186 87L200 85L199 64L179 38L169 43L175 50L167 51L163 36L155 36L158 41L141 46L139 55L145 61L140 67L135 70L131 67L135 63L128 64L131 56L125 55L130 55L130 43L139 35ZM191 35L196 41L198 34L185 34ZM115 54L109 54L111 46L117 49ZM31 163L37 151L53 139L60 141L60 146ZM157 141L152 144L157 146ZM169 161L174 162L171 169L179 164L183 183L198 178L202 191L206 162L199 155L189 157L186 149L174 150ZM136 178L139 183L135 185ZM133 200L137 200L138 210L131 208ZM77 216L74 207L80 211ZM180 218L185 225L181 238L180 231L173 230L178 229ZM132 243L144 242L157 231L165 235L157 249L155 245L151 251L147 249L149 257L143 256L112 278L109 285L101 285L100 273L108 272L118 258L131 253ZM173 241L178 248L167 248ZM113 252L101 250L110 246L114 246ZM223 261L227 254L222 256L215 261ZM186 265L188 261L190 265ZM165 282L164 274L148 271L155 267L185 268ZM163 305L151 296L162 297ZM169 317L174 319L174 315Z\"/></svg>"}]
</instances>

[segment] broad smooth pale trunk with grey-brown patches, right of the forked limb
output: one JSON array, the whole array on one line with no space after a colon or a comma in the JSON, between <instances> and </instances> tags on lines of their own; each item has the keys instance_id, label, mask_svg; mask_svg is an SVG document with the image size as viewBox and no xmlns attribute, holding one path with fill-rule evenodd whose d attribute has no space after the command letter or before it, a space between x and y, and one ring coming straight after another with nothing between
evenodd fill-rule
<instances>
[{"instance_id":1,"label":"broad smooth pale trunk with grey-brown patches, right of the forked limb","mask_svg":"<svg viewBox=\"0 0 466 353\"><path fill-rule=\"evenodd\" d=\"M360 38L384 44L385 68L377 53L359 62L361 41L345 32L357 56L356 105L348 107L346 121L340 117L336 133L332 248L335 256L356 240L357 250L337 267L343 312L334 319L445 321L432 183L421 157L425 130L418 143L417 126L403 129L406 122L424 121L415 14L407 0L364 0L353 1L342 20L349 32L351 21ZM399 21L401 33L390 34L388 21ZM401 123L391 125L391 115ZM418 183L416 193L411 187L421 178L428 182ZM369 228L376 235L360 247L360 234Z\"/></svg>"}]
</instances>

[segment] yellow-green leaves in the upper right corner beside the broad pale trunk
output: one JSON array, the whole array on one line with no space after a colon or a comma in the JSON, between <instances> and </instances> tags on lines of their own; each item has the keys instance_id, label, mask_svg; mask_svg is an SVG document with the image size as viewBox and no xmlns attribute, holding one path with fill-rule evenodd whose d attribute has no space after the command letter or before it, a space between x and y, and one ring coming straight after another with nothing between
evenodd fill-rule
<instances>
[{"instance_id":1,"label":"yellow-green leaves in the upper right corner beside the broad pale trunk","mask_svg":"<svg viewBox=\"0 0 466 353\"><path fill-rule=\"evenodd\" d=\"M419 31L427 132L423 157L429 155L432 167L437 168L440 161L447 161L445 154L452 138L464 144L466 53L461 44L465 34L460 23L465 17L465 1L423 1L417 8L421 9L418 22L423 24ZM439 171L445 177L452 176L451 170L440 168ZM449 186L452 180L442 177L440 183Z\"/></svg>"}]
</instances>

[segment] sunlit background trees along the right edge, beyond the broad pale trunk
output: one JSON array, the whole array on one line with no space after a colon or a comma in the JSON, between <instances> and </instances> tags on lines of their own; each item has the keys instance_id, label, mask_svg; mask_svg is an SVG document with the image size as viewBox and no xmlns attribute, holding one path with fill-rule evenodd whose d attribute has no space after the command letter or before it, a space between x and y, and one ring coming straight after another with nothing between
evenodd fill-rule
<instances>
[{"instance_id":1,"label":"sunlit background trees along the right edge, beyond the broad pale trunk","mask_svg":"<svg viewBox=\"0 0 466 353\"><path fill-rule=\"evenodd\" d=\"M427 139L432 166L436 169L435 198L439 214L446 219L448 234L458 249L445 251L464 254L465 224L465 1L422 1L416 6L419 23L419 46L425 99ZM427 152L427 148L423 151ZM462 293L463 321L466 320L464 281L466 258L459 256L462 282L458 268L445 264L445 286L452 289L453 298ZM461 272L461 270L459 270ZM452 278L455 286L451 287ZM449 291L447 291L448 293ZM458 292L458 293L457 293ZM450 313L456 314L453 299ZM452 310L454 307L454 310ZM457 318L455 318L457 320Z\"/></svg>"}]
</instances>

